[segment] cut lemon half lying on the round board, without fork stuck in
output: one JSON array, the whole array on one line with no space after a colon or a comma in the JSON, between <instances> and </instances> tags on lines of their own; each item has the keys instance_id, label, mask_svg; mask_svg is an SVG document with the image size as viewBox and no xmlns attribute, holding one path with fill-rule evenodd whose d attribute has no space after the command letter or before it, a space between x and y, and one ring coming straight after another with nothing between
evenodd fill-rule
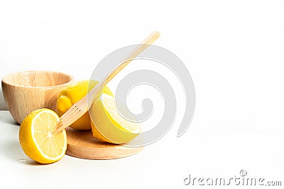
<instances>
[{"instance_id":1,"label":"cut lemon half lying on the round board, without fork stuck in","mask_svg":"<svg viewBox=\"0 0 284 189\"><path fill-rule=\"evenodd\" d=\"M127 108L120 105L123 115L130 116ZM136 122L124 119L116 110L116 101L113 96L103 93L90 108L92 134L101 142L123 144L138 136L141 127Z\"/></svg>"}]
</instances>

